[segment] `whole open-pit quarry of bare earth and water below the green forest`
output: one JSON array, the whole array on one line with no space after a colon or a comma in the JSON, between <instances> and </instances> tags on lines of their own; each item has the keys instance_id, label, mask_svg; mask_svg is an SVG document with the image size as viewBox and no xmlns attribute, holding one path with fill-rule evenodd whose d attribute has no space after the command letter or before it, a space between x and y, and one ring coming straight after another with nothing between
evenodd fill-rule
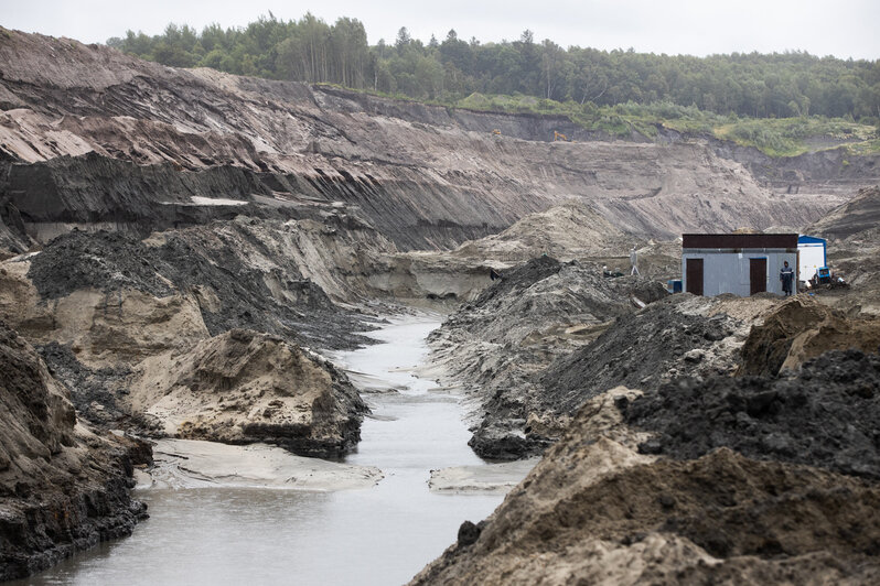
<instances>
[{"instance_id":1,"label":"whole open-pit quarry of bare earth and water below the green forest","mask_svg":"<svg viewBox=\"0 0 880 586\"><path fill-rule=\"evenodd\" d=\"M880 582L880 158L558 123L0 29L0 580Z\"/></svg>"}]
</instances>

